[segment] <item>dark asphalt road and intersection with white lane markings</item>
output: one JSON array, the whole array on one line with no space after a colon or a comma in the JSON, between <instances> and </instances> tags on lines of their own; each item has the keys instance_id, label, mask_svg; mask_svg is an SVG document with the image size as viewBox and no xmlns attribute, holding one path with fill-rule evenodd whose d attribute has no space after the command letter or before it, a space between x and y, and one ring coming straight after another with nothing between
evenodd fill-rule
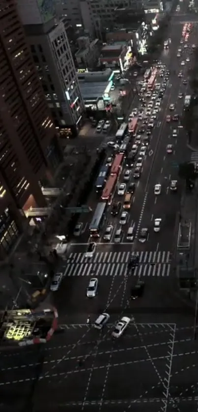
<instances>
[{"instance_id":1,"label":"dark asphalt road and intersection with white lane markings","mask_svg":"<svg viewBox=\"0 0 198 412\"><path fill-rule=\"evenodd\" d=\"M183 51L181 59L176 57L181 31L182 25L173 21L170 50L161 57L171 71L170 86L159 114L159 127L153 131L149 147L153 154L144 162L131 209L137 227L149 227L149 239L143 248L137 242L100 244L89 264L84 257L85 245L70 248L62 264L65 277L54 295L63 333L55 335L48 346L1 354L2 412L198 410L194 313L175 294L170 270L171 236L181 190L179 186L178 193L170 194L167 188L170 178L177 177L172 162L188 157L185 136L181 132L173 140L173 125L165 122L170 103L175 103L175 113L181 114L183 104L177 99L178 93L189 94L177 76L181 60L188 54ZM190 35L189 43L195 42L196 34ZM185 78L188 64L182 69ZM169 160L166 146L170 142L175 153ZM153 188L159 182L162 194L155 200ZM152 232L152 215L163 219L159 236ZM133 276L127 272L131 250L141 253ZM91 272L99 277L99 289L90 301L85 290ZM131 302L130 286L138 275L146 281L145 293ZM88 315L92 323L104 310L111 317L102 332L86 325ZM113 324L123 315L131 318L131 324L114 342Z\"/></svg>"}]
</instances>

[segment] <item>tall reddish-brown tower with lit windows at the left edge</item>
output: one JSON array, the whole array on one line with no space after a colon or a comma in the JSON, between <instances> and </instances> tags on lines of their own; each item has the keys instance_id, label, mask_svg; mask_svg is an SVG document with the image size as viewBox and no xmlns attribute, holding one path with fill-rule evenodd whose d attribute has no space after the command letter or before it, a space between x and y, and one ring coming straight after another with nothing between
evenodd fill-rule
<instances>
[{"instance_id":1,"label":"tall reddish-brown tower with lit windows at the left edge","mask_svg":"<svg viewBox=\"0 0 198 412\"><path fill-rule=\"evenodd\" d=\"M61 160L15 0L0 1L0 259L27 223L24 211L44 207L42 182Z\"/></svg>"}]
</instances>

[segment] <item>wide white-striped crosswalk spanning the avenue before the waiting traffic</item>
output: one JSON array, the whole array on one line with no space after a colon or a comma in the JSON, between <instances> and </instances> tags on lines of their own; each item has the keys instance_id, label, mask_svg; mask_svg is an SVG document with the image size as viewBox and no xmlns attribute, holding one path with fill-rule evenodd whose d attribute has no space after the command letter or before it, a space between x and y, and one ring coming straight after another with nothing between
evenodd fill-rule
<instances>
[{"instance_id":1,"label":"wide white-striped crosswalk spanning the avenue before the waiting traffic","mask_svg":"<svg viewBox=\"0 0 198 412\"><path fill-rule=\"evenodd\" d=\"M125 276L131 252L98 252L93 258L85 253L70 253L64 276ZM143 251L132 276L169 276L170 252Z\"/></svg>"}]
</instances>

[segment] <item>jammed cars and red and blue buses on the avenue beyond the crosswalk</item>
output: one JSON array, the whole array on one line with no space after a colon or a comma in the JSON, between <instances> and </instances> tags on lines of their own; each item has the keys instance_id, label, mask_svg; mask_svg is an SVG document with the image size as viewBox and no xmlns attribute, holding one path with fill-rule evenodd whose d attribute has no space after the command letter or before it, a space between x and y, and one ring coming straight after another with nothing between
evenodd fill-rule
<instances>
[{"instance_id":1,"label":"jammed cars and red and blue buses on the avenue beyond the crosswalk","mask_svg":"<svg viewBox=\"0 0 198 412\"><path fill-rule=\"evenodd\" d=\"M178 53L181 56L189 50L187 44L191 24L183 27L182 38ZM171 39L165 42L165 48L171 43ZM192 46L192 49L195 45ZM178 56L178 54L177 54ZM190 61L189 53L185 56L185 61L181 61L181 66ZM183 64L184 62L184 64ZM182 72L184 76L185 71ZM181 76L181 71L178 73ZM131 208L135 201L141 175L149 153L149 145L152 139L152 130L158 123L158 113L160 111L166 88L170 82L170 71L161 61L157 61L155 66L147 69L143 79L137 81L139 85L140 105L134 108L128 117L128 122L122 123L117 130L115 139L108 142L108 155L102 165L95 182L95 192L98 196L98 204L93 213L89 228L89 243L85 252L86 257L92 257L97 243L132 243L136 236L137 222L133 220ZM187 80L182 79L178 93L180 99L184 100L184 108L187 109L191 96L185 96ZM182 88L183 87L183 88ZM181 128L180 117L175 113L177 101L170 103L166 122L170 123L170 144L167 145L166 155L170 156L174 152L177 142L179 128ZM177 191L177 180L169 182L170 193ZM161 184L156 182L153 188L154 194L161 193ZM114 218L117 218L116 220ZM74 236L81 235L79 222L75 228ZM153 230L159 232L161 219L155 219ZM149 230L141 227L138 241L145 243L149 237Z\"/></svg>"}]
</instances>

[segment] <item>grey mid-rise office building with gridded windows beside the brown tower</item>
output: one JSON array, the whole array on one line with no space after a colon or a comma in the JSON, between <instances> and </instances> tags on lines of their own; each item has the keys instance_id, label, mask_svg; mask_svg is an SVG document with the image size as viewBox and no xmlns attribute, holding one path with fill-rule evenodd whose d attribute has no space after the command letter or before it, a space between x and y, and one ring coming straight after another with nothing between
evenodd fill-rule
<instances>
[{"instance_id":1,"label":"grey mid-rise office building with gridded windows beside the brown tower","mask_svg":"<svg viewBox=\"0 0 198 412\"><path fill-rule=\"evenodd\" d=\"M62 136L77 136L85 106L64 22L55 19L53 2L47 3L17 0L55 126Z\"/></svg>"}]
</instances>

